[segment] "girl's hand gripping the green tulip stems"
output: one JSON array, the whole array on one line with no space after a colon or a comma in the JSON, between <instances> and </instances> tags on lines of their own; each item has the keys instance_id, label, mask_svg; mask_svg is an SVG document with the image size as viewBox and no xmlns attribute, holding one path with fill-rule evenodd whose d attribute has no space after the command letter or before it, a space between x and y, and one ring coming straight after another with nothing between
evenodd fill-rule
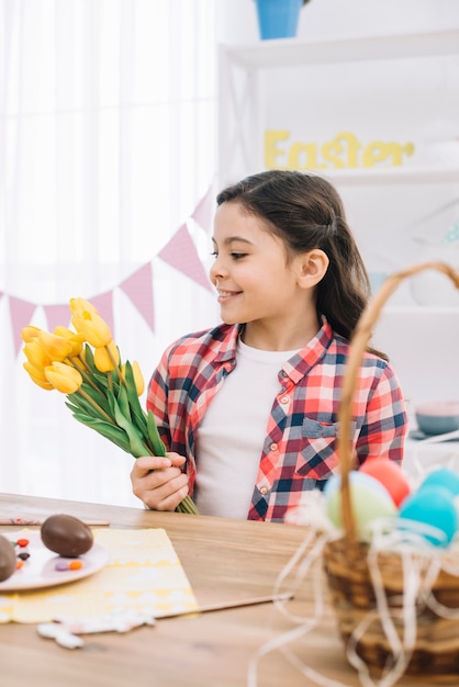
<instances>
[{"instance_id":1,"label":"girl's hand gripping the green tulip stems","mask_svg":"<svg viewBox=\"0 0 459 687\"><path fill-rule=\"evenodd\" d=\"M188 494L188 475L178 453L137 458L131 471L132 491L153 510L175 510Z\"/></svg>"}]
</instances>

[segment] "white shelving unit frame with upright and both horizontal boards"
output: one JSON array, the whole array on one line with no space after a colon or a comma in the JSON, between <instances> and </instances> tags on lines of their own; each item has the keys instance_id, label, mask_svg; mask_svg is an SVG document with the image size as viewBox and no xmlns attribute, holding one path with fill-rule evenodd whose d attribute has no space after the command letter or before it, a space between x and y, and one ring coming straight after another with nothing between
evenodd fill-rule
<instances>
[{"instance_id":1,"label":"white shelving unit frame with upright and both horizontal boards","mask_svg":"<svg viewBox=\"0 0 459 687\"><path fill-rule=\"evenodd\" d=\"M459 59L459 30L413 34L376 35L356 38L303 41L278 38L242 45L220 46L219 167L225 184L262 168L264 148L260 132L265 126L264 100L269 69L320 67L323 65L362 64L371 60ZM283 79L283 75L281 74ZM295 80L289 80L294 99ZM371 187L459 183L459 161L441 165L374 167L359 169L321 169L340 187Z\"/></svg>"}]
</instances>

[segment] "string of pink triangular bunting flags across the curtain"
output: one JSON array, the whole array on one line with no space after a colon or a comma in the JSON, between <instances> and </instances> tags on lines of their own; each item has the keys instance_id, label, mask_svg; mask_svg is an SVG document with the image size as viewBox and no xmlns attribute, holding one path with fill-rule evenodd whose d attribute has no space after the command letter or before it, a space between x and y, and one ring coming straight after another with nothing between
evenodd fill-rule
<instances>
[{"instance_id":1,"label":"string of pink triangular bunting flags across the curtain","mask_svg":"<svg viewBox=\"0 0 459 687\"><path fill-rule=\"evenodd\" d=\"M194 219L194 222L205 230L210 229L212 204L213 183L190 215L190 218ZM156 257L197 284L212 291L212 285L202 266L194 241L188 230L187 222L171 236ZM153 260L150 260L135 270L127 279L124 279L104 293L88 297L88 301L98 308L103 319L114 333L113 294L115 289L121 289L143 316L152 331L155 331L153 277ZM53 331L57 325L61 325L68 319L68 303L35 303L33 301L18 299L4 291L0 292L0 300L3 297L9 300L15 356L18 356L22 347L21 330L25 325L32 322L37 307L43 308L49 331Z\"/></svg>"}]
</instances>

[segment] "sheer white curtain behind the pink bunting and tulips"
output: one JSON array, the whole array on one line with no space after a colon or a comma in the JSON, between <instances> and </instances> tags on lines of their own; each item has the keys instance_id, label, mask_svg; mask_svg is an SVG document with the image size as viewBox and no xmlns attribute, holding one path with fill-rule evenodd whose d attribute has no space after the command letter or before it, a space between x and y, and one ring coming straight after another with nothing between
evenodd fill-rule
<instances>
[{"instance_id":1,"label":"sheer white curtain behind the pink bunting and tulips","mask_svg":"<svg viewBox=\"0 0 459 687\"><path fill-rule=\"evenodd\" d=\"M211 289L159 257L183 227L208 267L192 215L215 176L214 4L0 0L0 492L138 504L133 459L30 381L18 330L27 308L49 329L52 306L109 294L147 380L215 322ZM154 326L117 288L148 263Z\"/></svg>"}]
</instances>

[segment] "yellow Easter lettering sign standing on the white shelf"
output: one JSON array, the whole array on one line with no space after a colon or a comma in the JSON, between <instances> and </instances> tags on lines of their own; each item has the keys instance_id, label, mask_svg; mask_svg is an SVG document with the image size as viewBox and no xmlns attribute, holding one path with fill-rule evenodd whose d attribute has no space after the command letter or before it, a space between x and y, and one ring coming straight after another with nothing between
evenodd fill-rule
<instances>
[{"instance_id":1,"label":"yellow Easter lettering sign standing on the white shelf","mask_svg":"<svg viewBox=\"0 0 459 687\"><path fill-rule=\"evenodd\" d=\"M372 140L362 144L351 132L340 132L325 143L291 140L288 129L265 132L267 169L356 169L401 167L414 153L413 143Z\"/></svg>"}]
</instances>

